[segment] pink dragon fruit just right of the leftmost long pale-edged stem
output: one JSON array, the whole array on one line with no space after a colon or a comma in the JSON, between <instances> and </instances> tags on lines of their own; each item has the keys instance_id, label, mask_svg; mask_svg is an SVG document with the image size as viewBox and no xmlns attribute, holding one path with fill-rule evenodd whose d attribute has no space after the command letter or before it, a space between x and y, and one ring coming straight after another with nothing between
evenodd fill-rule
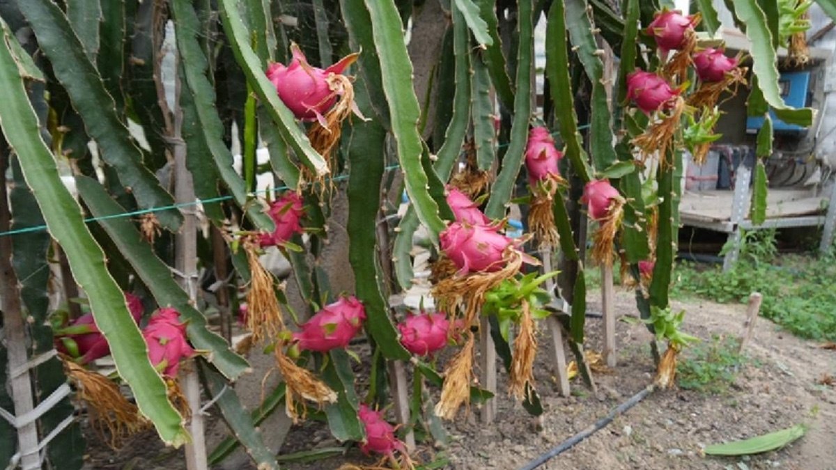
<instances>
[{"instance_id":1,"label":"pink dragon fruit just right of the leftmost long pale-edged stem","mask_svg":"<svg viewBox=\"0 0 836 470\"><path fill-rule=\"evenodd\" d=\"M164 375L175 377L180 361L195 355L186 340L186 324L180 322L180 313L171 307L157 310L142 335L151 364L161 368Z\"/></svg>"}]
</instances>

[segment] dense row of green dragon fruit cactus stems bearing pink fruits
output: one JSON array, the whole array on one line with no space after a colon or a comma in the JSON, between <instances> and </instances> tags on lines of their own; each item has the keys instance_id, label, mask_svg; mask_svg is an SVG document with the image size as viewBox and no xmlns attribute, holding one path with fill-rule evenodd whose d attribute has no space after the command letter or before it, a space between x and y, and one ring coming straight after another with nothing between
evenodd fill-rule
<instances>
[{"instance_id":1,"label":"dense row of green dragon fruit cactus stems bearing pink fruits","mask_svg":"<svg viewBox=\"0 0 836 470\"><path fill-rule=\"evenodd\" d=\"M27 0L3 10L0 127L16 152L0 158L9 178L8 197L0 197L0 213L9 215L0 217L0 232L8 236L0 243L17 274L4 270L3 285L12 289L9 299L21 300L22 314L10 315L17 323L4 324L14 338L9 350L19 354L9 354L12 359L0 367L18 370L45 357L53 345L87 364L110 352L138 410L166 444L179 446L201 431L195 421L186 431L151 362L164 374L188 375L191 367L178 370L181 360L206 351L199 362L206 379L200 396L220 396L215 403L232 428L230 442L212 452L213 466L235 442L247 448L254 467L278 465L256 431L269 411L254 416L234 396L232 384L252 372L227 341L229 317L241 301L247 304L251 343L261 346L250 354L272 351L278 367L273 376L282 377L283 388L265 393L275 398L283 390L284 412L294 421L304 419L305 403L314 403L329 419L339 416L339 424L331 419L334 437L365 442L368 452L400 450L383 417L372 416L377 411L359 416L360 396L375 410L385 410L390 401L385 387L353 390L365 383L356 380L351 363L349 343L359 335L369 339L380 383L397 369L392 361L400 361L414 367L413 376L418 371L428 387L441 387L433 404L426 396L437 394L406 397L426 414L391 431L408 434L415 426L438 432L427 426L435 419L432 411L451 419L469 401L492 396L476 381L484 367L474 360L477 342L492 333L480 330L482 324L497 324L496 319L506 332L518 329L517 340L507 335L512 345L495 335L497 354L513 365L512 395L522 394L523 405L533 401L529 365L545 299L539 288L524 294L524 286L539 276L521 272L525 263L536 265L523 247L533 240L535 248L561 252L566 275L549 294L559 294L572 307L568 338L580 364L585 260L579 248L586 240L573 227L581 227L586 215L596 233L594 257L623 258L636 278L640 312L653 316L649 328L668 341L670 352L662 355L658 371L667 379L658 383L670 385L684 319L670 314L668 299L681 152L690 150L698 162L705 156L717 138L722 101L748 84L746 67L756 78L750 96L763 98L760 105L750 101L752 113L768 116L771 107L785 122L799 125L810 125L813 115L782 102L774 67L777 47L803 57L809 2L780 0L777 13L764 12L757 2L730 3L734 16L745 18L753 45L745 60L726 55L716 42L701 43L696 28L713 36L721 26L710 9L702 22L700 15L654 13L640 0L624 0L618 9L589 0L546 3L543 115L533 87L541 78L535 76L541 69L533 56L536 2L456 0L443 3L431 18L399 8L395 0L339 0L339 8L327 15L319 14L319 0L263 2L271 8L239 8L236 0L177 0L159 8L158 2L125 0L102 3L108 8L94 22L100 28L91 28L87 15L64 3ZM292 12L299 14L287 14ZM290 26L291 18L303 27ZM410 22L413 31L426 24L446 31L434 38L413 36L408 46L404 30ZM174 28L174 43L164 41L166 28L156 28L165 24ZM777 38L756 37L776 25ZM21 46L20 38L28 42ZM618 56L612 76L605 76L603 42ZM34 50L28 47L33 43L37 60L26 52ZM426 60L413 63L415 52ZM176 74L161 69L167 54L177 59ZM584 103L576 100L581 95ZM128 130L129 120L145 135L141 146ZM758 139L760 156L770 151L770 129L764 125ZM230 165L236 135L242 140L240 173ZM101 165L92 164L96 147L88 146L90 141ZM256 156L263 153L268 162L258 166ZM77 198L58 177L59 161L73 171ZM257 171L265 167L283 188L267 204L255 185ZM171 185L157 177L166 174ZM766 188L762 162L754 175L754 186ZM515 193L518 181L528 183L530 194ZM766 190L755 193L757 216ZM529 204L530 230L523 238L507 231L514 203ZM304 237L298 237L302 227ZM234 236L242 233L247 236ZM413 265L420 251L416 234L438 259L431 265L437 310L401 318L399 326L390 299L419 277ZM340 247L346 239L347 248ZM60 257L52 256L59 253L55 243L62 248ZM286 280L261 264L263 248L272 246L291 263ZM331 253L348 253L349 267L329 266ZM75 281L91 310L62 325L64 330L48 327L43 301L54 294L48 276L53 259L62 264L66 295L76 296ZM339 298L333 288L339 283L329 277L348 268L354 285L340 289L354 297ZM195 276L212 275L211 284L196 282ZM128 309L122 294L136 283L154 297L147 304L171 306L179 315L158 311L141 331L139 314ZM302 307L288 308L288 297L296 299L291 290ZM246 299L238 299L243 291ZM216 298L206 303L206 296ZM217 305L221 318L206 304ZM223 335L208 324L222 324ZM109 344L105 338L120 340ZM436 349L447 346L449 358ZM436 370L436 359L447 359L439 365L443 373ZM68 364L77 376L89 371ZM65 382L64 367L51 359L38 366L31 390L49 396ZM115 395L118 389L112 387ZM60 406L69 409L69 397ZM38 441L40 430L52 428L45 417L37 426L3 428L0 435ZM74 424L44 452L75 470L84 462L69 450L83 447ZM21 465L37 467L40 458L24 455Z\"/></svg>"}]
</instances>

